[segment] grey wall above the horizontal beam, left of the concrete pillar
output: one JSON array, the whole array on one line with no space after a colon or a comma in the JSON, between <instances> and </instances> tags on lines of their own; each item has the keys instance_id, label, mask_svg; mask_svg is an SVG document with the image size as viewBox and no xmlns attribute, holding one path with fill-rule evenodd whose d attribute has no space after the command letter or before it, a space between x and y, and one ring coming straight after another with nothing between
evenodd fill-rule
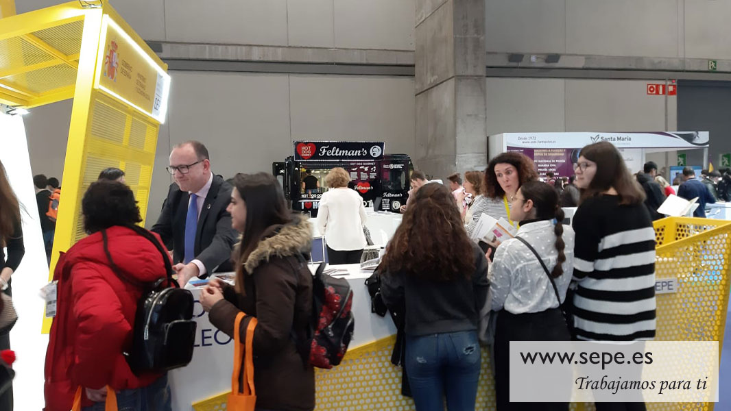
<instances>
[{"instance_id":1,"label":"grey wall above the horizontal beam, left of the concrete pillar","mask_svg":"<svg viewBox=\"0 0 731 411\"><path fill-rule=\"evenodd\" d=\"M18 13L67 0L18 0ZM145 40L414 50L414 0L116 0Z\"/></svg>"}]
</instances>

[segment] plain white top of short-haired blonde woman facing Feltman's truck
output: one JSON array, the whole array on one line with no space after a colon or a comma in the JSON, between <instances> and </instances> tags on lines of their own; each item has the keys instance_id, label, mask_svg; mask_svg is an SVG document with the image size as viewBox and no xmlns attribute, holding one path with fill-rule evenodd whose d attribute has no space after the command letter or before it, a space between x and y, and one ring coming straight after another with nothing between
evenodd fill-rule
<instances>
[{"instance_id":1,"label":"plain white top of short-haired blonde woman facing Feltman's truck","mask_svg":"<svg viewBox=\"0 0 731 411\"><path fill-rule=\"evenodd\" d=\"M325 235L327 247L336 251L366 247L366 207L363 197L347 187L330 188L322 194L317 210L317 228Z\"/></svg>"}]
</instances>

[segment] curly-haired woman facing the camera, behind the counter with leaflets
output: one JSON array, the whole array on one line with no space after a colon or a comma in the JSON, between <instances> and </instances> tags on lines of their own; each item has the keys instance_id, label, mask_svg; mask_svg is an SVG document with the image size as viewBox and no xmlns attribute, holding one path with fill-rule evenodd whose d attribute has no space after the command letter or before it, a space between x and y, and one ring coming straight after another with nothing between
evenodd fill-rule
<instances>
[{"instance_id":1,"label":"curly-haired woman facing the camera, behind the counter with leaflets","mask_svg":"<svg viewBox=\"0 0 731 411\"><path fill-rule=\"evenodd\" d=\"M474 206L472 220L467 225L467 233L471 234L477 226L477 221L483 213L495 218L504 218L513 226L518 221L510 218L510 203L518 188L528 181L538 180L533 160L521 153L509 151L497 155L485 169L485 200L477 207Z\"/></svg>"}]
</instances>

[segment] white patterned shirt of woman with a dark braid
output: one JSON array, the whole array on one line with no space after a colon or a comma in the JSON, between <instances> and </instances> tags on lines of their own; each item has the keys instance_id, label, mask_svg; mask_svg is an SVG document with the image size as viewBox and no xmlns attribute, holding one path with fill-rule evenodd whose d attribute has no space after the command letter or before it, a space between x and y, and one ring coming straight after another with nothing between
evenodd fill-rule
<instances>
[{"instance_id":1,"label":"white patterned shirt of woman with a dark braid","mask_svg":"<svg viewBox=\"0 0 731 411\"><path fill-rule=\"evenodd\" d=\"M536 249L549 271L553 270L558 260L553 230L553 221L542 220L520 226L516 234L516 237L525 239ZM564 274L553 279L561 302L566 299L574 271L574 237L573 228L564 224ZM518 239L507 239L499 245L488 278L493 311L504 308L512 314L523 314L558 308L556 293L548 275L535 254Z\"/></svg>"}]
</instances>

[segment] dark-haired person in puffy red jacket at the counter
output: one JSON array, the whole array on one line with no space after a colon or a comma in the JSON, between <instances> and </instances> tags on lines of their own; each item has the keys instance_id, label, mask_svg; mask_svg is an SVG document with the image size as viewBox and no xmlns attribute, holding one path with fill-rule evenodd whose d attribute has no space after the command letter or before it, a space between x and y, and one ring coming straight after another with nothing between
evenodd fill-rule
<instances>
[{"instance_id":1,"label":"dark-haired person in puffy red jacket at the counter","mask_svg":"<svg viewBox=\"0 0 731 411\"><path fill-rule=\"evenodd\" d=\"M167 375L135 375L123 354L132 345L143 290L110 267L111 257L125 277L151 284L166 277L162 258L169 257L151 242L162 244L157 234L147 239L131 228L142 218L126 185L92 183L82 209L89 236L61 255L53 274L58 305L46 351L44 410L70 410L78 387L84 411L104 410L109 385L120 410L169 411Z\"/></svg>"}]
</instances>

